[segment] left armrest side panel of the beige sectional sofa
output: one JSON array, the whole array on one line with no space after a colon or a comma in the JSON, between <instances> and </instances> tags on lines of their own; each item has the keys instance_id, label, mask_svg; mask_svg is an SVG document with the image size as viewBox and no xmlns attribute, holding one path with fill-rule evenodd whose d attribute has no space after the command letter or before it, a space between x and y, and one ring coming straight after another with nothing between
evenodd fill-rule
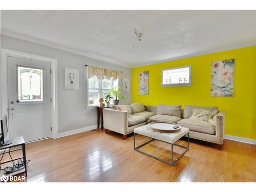
<instances>
[{"instance_id":1,"label":"left armrest side panel of the beige sectional sofa","mask_svg":"<svg viewBox=\"0 0 256 192\"><path fill-rule=\"evenodd\" d=\"M103 109L104 128L126 135L128 127L128 112L113 109Z\"/></svg>"}]
</instances>

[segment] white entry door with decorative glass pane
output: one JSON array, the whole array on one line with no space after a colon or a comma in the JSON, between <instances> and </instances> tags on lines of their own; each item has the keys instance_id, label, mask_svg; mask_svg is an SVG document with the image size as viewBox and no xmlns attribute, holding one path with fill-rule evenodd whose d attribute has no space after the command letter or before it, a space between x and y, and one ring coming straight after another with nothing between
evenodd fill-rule
<instances>
[{"instance_id":1,"label":"white entry door with decorative glass pane","mask_svg":"<svg viewBox=\"0 0 256 192\"><path fill-rule=\"evenodd\" d=\"M8 57L9 136L51 137L50 63Z\"/></svg>"}]
</instances>

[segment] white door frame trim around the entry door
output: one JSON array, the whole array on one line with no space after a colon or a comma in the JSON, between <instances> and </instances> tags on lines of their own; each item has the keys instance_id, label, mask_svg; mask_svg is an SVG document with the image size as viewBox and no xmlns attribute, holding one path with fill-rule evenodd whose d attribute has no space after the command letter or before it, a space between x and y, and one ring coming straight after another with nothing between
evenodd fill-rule
<instances>
[{"instance_id":1,"label":"white door frame trim around the entry door","mask_svg":"<svg viewBox=\"0 0 256 192\"><path fill-rule=\"evenodd\" d=\"M1 49L1 118L8 114L8 56L43 61L51 66L51 137L56 139L58 135L58 95L57 95L57 59L18 52L9 49ZM9 133L8 133L9 134Z\"/></svg>"}]
</instances>

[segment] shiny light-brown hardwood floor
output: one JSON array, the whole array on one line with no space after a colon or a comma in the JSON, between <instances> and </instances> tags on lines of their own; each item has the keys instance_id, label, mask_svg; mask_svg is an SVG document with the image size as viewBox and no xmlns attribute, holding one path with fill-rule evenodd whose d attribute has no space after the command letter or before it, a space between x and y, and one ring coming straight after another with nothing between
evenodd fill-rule
<instances>
[{"instance_id":1,"label":"shiny light-brown hardwood floor","mask_svg":"<svg viewBox=\"0 0 256 192\"><path fill-rule=\"evenodd\" d=\"M133 150L114 132L88 131L26 144L27 181L39 182L255 182L256 146L225 140L218 146L191 140L172 167ZM146 140L136 136L136 143ZM185 140L179 144L186 144ZM168 160L170 145L152 141L142 150ZM177 151L175 148L174 151ZM14 157L17 154L14 154ZM8 154L4 158L8 158Z\"/></svg>"}]
</instances>

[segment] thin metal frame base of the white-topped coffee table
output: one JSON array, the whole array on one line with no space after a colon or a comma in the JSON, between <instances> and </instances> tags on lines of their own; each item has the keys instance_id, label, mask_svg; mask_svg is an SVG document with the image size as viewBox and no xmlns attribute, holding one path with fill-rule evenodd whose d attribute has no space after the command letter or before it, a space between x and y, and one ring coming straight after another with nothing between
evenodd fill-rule
<instances>
[{"instance_id":1,"label":"thin metal frame base of the white-topped coffee table","mask_svg":"<svg viewBox=\"0 0 256 192\"><path fill-rule=\"evenodd\" d=\"M145 143L143 143L143 144L141 144L141 145L139 145L139 146L136 147L136 145L135 145L135 143L136 143L136 141L135 141L135 140L136 140L136 133L133 133L133 135L134 135L134 150L135 150L135 151L140 152L140 153L143 153L143 154L145 154L145 155L147 155L147 156L150 156L150 157L152 157L152 158L154 158L154 159L157 159L157 160L159 160L159 161L162 161L163 163L166 163L166 164L171 165L171 166L174 166L174 165L179 161L179 159L187 152L188 147L189 147L189 132L185 134L185 135L187 135L187 146L183 146L183 145L176 144L176 142L179 141L179 140L180 140L182 137L184 137L185 135L183 135L180 139L178 139L178 140L177 140L176 142L174 142L174 143L168 143L168 142L165 142L165 141L162 141L162 140L159 140L159 139L155 139L155 138L152 138L152 137L148 137L148 136L142 135L142 136L144 136L144 137L151 138L151 140L150 140L150 141L147 141L147 142L145 142ZM141 134L137 134L137 135L141 135ZM163 160L163 159L160 159L160 158L158 158L158 157L156 157L156 156L154 156L154 155L151 155L151 154L148 154L148 153L146 153L146 152L143 152L143 151L139 150L140 147L144 146L145 144L147 144L147 143L149 143L149 142L151 142L151 141L153 141L153 140L162 141L162 142L165 142L165 143L168 143L168 144L171 144L171 145L172 145L172 153L171 153L171 156L172 156L171 160L172 160L172 162L171 162L171 163L168 162L168 161L165 161L165 160ZM185 148L185 151L184 151L178 158L176 158L175 160L174 160L174 145L175 145L175 146L182 147L182 148Z\"/></svg>"}]
</instances>

